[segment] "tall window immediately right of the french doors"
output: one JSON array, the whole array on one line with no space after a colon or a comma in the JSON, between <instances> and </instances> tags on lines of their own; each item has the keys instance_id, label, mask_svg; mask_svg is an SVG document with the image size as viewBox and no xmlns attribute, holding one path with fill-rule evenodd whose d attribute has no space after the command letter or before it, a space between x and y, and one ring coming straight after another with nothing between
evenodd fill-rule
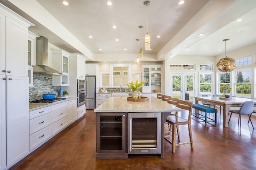
<instances>
[{"instance_id":1,"label":"tall window immediately right of the french doors","mask_svg":"<svg viewBox=\"0 0 256 170\"><path fill-rule=\"evenodd\" d=\"M200 90L199 94L212 94L212 73L200 73Z\"/></svg>"}]
</instances>

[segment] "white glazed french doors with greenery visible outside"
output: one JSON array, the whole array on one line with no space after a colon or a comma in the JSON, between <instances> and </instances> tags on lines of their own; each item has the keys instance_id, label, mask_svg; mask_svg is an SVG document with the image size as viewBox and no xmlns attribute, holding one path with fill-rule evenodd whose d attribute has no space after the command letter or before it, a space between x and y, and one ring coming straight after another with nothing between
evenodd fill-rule
<instances>
[{"instance_id":1,"label":"white glazed french doors with greenery visible outside","mask_svg":"<svg viewBox=\"0 0 256 170\"><path fill-rule=\"evenodd\" d=\"M170 74L170 96L180 100L193 100L194 74Z\"/></svg>"}]
</instances>

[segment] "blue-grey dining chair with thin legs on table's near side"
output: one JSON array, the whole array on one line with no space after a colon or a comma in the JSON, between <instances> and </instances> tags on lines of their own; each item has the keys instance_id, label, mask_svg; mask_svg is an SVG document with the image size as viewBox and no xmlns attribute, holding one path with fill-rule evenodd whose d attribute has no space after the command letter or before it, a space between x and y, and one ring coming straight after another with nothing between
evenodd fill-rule
<instances>
[{"instance_id":1,"label":"blue-grey dining chair with thin legs on table's near side","mask_svg":"<svg viewBox=\"0 0 256 170\"><path fill-rule=\"evenodd\" d=\"M238 115L238 125L239 125L239 122L240 122L240 129L241 129L241 115L248 115L249 116L249 121L251 121L252 123L252 120L251 120L251 117L250 115L252 114L253 112L253 106L254 106L254 102L252 101L246 101L242 104L242 106L240 107L239 110L230 110L231 114L230 114L230 117L229 117L229 120L228 120L228 123L230 121L230 118L232 116L232 113L237 113L239 114ZM249 123L248 121L248 123ZM252 128L254 129L253 125L252 125Z\"/></svg>"}]
</instances>

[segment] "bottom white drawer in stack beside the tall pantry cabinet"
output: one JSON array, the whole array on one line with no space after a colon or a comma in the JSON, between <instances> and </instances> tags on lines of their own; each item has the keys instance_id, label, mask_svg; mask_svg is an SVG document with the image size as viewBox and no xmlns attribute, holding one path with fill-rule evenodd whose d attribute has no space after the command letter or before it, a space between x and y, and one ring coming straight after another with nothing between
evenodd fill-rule
<instances>
[{"instance_id":1,"label":"bottom white drawer in stack beside the tall pantry cabinet","mask_svg":"<svg viewBox=\"0 0 256 170\"><path fill-rule=\"evenodd\" d=\"M51 126L47 126L44 129L41 129L40 131L34 133L33 135L30 135L29 137L30 150L38 146L43 141L46 141L46 139L48 139L50 136L51 136Z\"/></svg>"}]
</instances>

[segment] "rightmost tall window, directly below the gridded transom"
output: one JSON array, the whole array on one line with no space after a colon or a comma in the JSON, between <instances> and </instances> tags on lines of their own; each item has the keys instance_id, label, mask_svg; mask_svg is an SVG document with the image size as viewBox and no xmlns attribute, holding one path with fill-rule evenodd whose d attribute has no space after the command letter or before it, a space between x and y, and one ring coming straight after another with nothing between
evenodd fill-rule
<instances>
[{"instance_id":1,"label":"rightmost tall window, directly below the gridded transom","mask_svg":"<svg viewBox=\"0 0 256 170\"><path fill-rule=\"evenodd\" d=\"M235 95L243 97L251 97L251 70L236 70Z\"/></svg>"}]
</instances>

